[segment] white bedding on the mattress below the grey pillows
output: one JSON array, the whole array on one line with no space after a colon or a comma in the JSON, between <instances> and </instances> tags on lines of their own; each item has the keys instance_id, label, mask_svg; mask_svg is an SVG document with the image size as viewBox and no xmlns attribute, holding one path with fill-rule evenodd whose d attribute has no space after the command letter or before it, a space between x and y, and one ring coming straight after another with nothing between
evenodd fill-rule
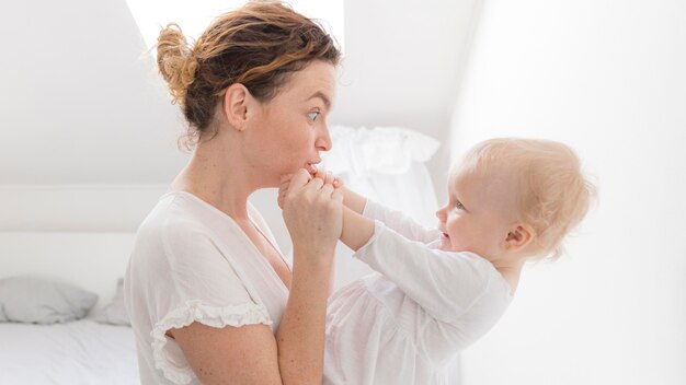
<instances>
[{"instance_id":1,"label":"white bedding on the mattress below the grey pillows","mask_svg":"<svg viewBox=\"0 0 686 385\"><path fill-rule=\"evenodd\" d=\"M0 323L0 384L138 384L130 327Z\"/></svg>"}]
</instances>

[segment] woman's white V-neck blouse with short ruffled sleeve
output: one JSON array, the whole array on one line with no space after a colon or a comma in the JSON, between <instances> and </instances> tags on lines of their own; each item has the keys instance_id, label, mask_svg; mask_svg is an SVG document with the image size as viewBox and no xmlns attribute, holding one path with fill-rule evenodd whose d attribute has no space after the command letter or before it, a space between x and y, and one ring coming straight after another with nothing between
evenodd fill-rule
<instances>
[{"instance_id":1,"label":"woman's white V-neck blouse with short ruffled sleeve","mask_svg":"<svg viewBox=\"0 0 686 385\"><path fill-rule=\"evenodd\" d=\"M248 214L278 250L251 205ZM167 330L198 322L264 324L276 332L288 300L288 289L239 225L184 191L162 196L138 229L124 282L142 385L199 384Z\"/></svg>"}]
</instances>

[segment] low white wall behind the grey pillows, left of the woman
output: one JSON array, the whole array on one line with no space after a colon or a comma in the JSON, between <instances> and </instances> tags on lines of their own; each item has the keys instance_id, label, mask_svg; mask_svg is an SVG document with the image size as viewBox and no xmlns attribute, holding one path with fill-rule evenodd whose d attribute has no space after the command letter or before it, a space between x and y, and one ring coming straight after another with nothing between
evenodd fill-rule
<instances>
[{"instance_id":1,"label":"low white wall behind the grey pillows, left of the woman","mask_svg":"<svg viewBox=\"0 0 686 385\"><path fill-rule=\"evenodd\" d=\"M0 279L70 282L107 304L164 185L0 185Z\"/></svg>"}]
</instances>

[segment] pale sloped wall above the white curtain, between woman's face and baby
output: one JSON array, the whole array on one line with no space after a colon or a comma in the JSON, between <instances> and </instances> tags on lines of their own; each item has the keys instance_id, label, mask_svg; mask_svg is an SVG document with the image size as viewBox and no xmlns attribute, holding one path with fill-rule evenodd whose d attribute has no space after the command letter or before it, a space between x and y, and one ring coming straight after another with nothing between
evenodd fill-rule
<instances>
[{"instance_id":1,"label":"pale sloped wall above the white curtain, between woman's face and baby","mask_svg":"<svg viewBox=\"0 0 686 385\"><path fill-rule=\"evenodd\" d=\"M405 127L447 143L478 0L345 0L345 57L331 121ZM428 162L442 202L449 148Z\"/></svg>"}]
</instances>

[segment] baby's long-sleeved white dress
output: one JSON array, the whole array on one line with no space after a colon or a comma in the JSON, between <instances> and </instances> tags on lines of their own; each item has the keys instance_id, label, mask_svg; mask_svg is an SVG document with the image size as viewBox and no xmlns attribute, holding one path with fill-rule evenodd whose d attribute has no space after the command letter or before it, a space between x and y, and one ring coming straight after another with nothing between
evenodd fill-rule
<instances>
[{"instance_id":1,"label":"baby's long-sleeved white dress","mask_svg":"<svg viewBox=\"0 0 686 385\"><path fill-rule=\"evenodd\" d=\"M324 384L445 384L446 364L507 308L510 285L441 232L367 201L374 235L354 257L377 272L329 300Z\"/></svg>"}]
</instances>

